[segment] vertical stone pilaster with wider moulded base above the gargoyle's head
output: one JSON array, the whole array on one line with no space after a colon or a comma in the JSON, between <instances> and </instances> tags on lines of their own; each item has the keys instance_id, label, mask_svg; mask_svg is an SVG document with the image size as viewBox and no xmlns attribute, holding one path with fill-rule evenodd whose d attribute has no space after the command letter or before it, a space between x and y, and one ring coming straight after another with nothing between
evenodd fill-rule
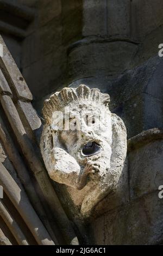
<instances>
[{"instance_id":1,"label":"vertical stone pilaster with wider moulded base above the gargoyle's head","mask_svg":"<svg viewBox=\"0 0 163 256\"><path fill-rule=\"evenodd\" d=\"M73 42L68 50L70 83L130 69L137 51L136 42L130 38L130 5L130 0L83 0L84 38Z\"/></svg>"}]
</instances>

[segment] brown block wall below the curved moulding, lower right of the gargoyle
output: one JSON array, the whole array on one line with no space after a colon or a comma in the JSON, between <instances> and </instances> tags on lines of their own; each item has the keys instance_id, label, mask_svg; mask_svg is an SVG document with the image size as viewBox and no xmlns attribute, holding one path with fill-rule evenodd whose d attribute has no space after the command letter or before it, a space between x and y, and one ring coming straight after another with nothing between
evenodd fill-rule
<instances>
[{"instance_id":1,"label":"brown block wall below the curved moulding, lower right of the gargoyle","mask_svg":"<svg viewBox=\"0 0 163 256\"><path fill-rule=\"evenodd\" d=\"M162 176L162 130L140 133L128 142L128 173L123 193L106 197L90 224L99 245L161 244L163 200L158 197ZM159 135L159 136L158 136Z\"/></svg>"}]
</instances>

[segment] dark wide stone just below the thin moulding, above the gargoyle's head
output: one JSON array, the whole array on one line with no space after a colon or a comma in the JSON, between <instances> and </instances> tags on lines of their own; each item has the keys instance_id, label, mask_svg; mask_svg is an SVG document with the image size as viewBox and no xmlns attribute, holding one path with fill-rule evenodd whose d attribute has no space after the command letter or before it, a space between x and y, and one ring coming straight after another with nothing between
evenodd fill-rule
<instances>
[{"instance_id":1,"label":"dark wide stone just below the thin moulding, above the gargoyle's head","mask_svg":"<svg viewBox=\"0 0 163 256\"><path fill-rule=\"evenodd\" d=\"M68 56L71 80L121 73L129 69L136 49L137 45L125 41L103 44L98 41L90 44L90 41L86 41L72 49Z\"/></svg>"}]
</instances>

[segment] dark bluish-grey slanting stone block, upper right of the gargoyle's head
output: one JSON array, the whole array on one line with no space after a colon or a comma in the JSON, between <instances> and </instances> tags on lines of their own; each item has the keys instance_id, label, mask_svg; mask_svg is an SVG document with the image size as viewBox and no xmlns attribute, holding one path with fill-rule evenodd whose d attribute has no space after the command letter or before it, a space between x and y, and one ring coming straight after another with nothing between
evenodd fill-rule
<instances>
[{"instance_id":1,"label":"dark bluish-grey slanting stone block, upper right of the gargoyle's head","mask_svg":"<svg viewBox=\"0 0 163 256\"><path fill-rule=\"evenodd\" d=\"M142 65L136 66L114 77L111 81L112 86L108 88L108 92L113 97L114 103L118 106L118 104L122 104L131 99L131 97L135 97L141 93L148 93L148 84L151 84L153 77L156 76L155 72L160 65L160 61L160 58L155 56ZM108 77L108 79L110 78ZM156 90L161 90L159 89L159 85L155 85L155 87L157 87Z\"/></svg>"}]
</instances>

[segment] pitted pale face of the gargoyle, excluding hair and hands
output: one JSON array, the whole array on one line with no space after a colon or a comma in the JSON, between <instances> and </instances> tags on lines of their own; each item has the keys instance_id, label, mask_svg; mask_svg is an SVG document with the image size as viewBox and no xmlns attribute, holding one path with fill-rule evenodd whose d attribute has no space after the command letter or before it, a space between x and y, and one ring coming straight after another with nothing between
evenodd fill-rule
<instances>
[{"instance_id":1,"label":"pitted pale face of the gargoyle, excluding hair and hands","mask_svg":"<svg viewBox=\"0 0 163 256\"><path fill-rule=\"evenodd\" d=\"M67 153L80 166L77 179L74 181L70 177L70 182L74 183L69 182L69 185L82 189L87 175L92 174L91 179L98 179L106 168L110 168L111 113L104 105L92 104L91 101L83 101L76 106L71 104L69 112L70 130L60 131L59 138Z\"/></svg>"}]
</instances>

